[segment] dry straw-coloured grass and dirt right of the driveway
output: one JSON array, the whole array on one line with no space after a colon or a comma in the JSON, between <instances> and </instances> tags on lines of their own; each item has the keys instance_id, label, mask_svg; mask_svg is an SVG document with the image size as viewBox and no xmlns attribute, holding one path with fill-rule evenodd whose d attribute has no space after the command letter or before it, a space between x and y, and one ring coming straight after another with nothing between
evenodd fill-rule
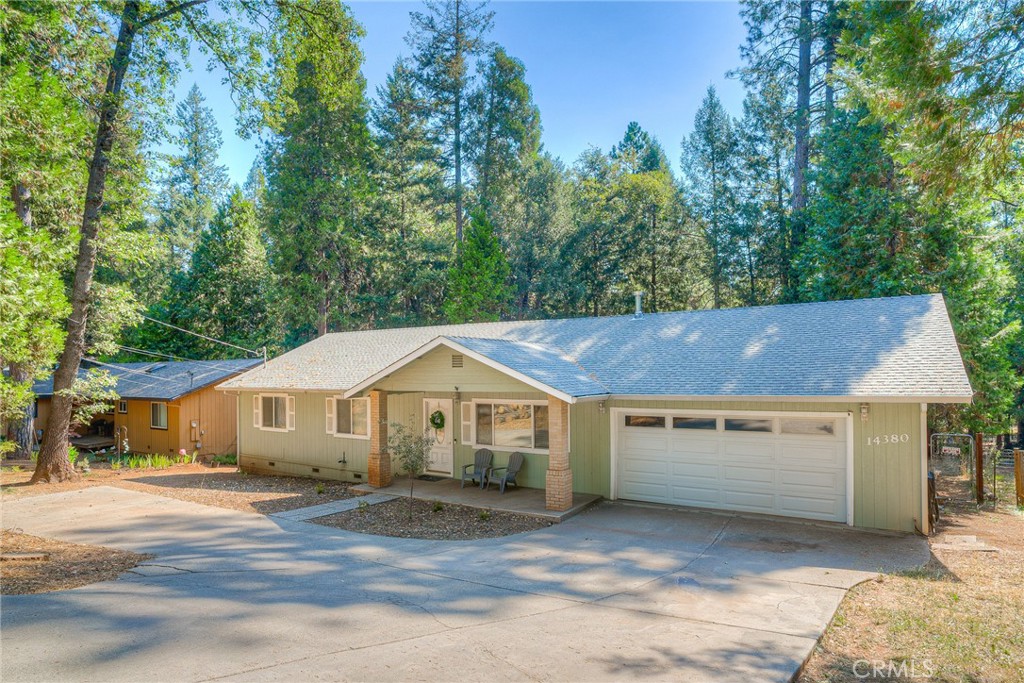
<instances>
[{"instance_id":1,"label":"dry straw-coloured grass and dirt right of the driveway","mask_svg":"<svg viewBox=\"0 0 1024 683\"><path fill-rule=\"evenodd\" d=\"M938 493L948 501L929 563L850 591L802 683L1024 681L1024 512L1013 504L1013 475L997 482L996 504L976 505L956 474L941 476ZM963 536L995 551L936 547Z\"/></svg>"}]
</instances>

